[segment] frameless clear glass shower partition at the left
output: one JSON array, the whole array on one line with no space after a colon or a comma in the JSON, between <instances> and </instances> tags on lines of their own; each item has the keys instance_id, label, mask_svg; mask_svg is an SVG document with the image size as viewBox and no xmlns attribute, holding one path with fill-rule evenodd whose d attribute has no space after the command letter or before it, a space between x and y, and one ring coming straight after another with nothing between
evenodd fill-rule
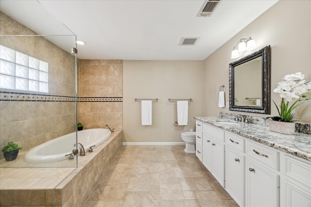
<instances>
[{"instance_id":1,"label":"frameless clear glass shower partition at the left","mask_svg":"<svg viewBox=\"0 0 311 207\"><path fill-rule=\"evenodd\" d=\"M70 155L77 149L76 35L39 1L0 5L0 149L23 147L12 161L0 153L1 206L36 206L34 189L44 195L40 206L55 206L59 184L78 163ZM64 142L54 143L59 137ZM12 198L13 189L20 196Z\"/></svg>"}]
</instances>

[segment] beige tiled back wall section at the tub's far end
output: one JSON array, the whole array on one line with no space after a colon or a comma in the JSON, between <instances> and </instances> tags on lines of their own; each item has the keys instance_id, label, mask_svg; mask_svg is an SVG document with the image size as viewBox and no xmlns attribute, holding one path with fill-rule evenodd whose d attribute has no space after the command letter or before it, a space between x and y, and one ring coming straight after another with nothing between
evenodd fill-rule
<instances>
[{"instance_id":1,"label":"beige tiled back wall section at the tub's far end","mask_svg":"<svg viewBox=\"0 0 311 207\"><path fill-rule=\"evenodd\" d=\"M85 128L122 129L122 60L79 60L78 65L78 122Z\"/></svg>"}]
</instances>

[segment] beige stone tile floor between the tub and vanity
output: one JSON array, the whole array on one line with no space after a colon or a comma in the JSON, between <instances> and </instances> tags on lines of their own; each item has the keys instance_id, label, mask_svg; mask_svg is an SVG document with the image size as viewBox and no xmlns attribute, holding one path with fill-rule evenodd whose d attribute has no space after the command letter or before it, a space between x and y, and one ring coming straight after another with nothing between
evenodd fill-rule
<instances>
[{"instance_id":1,"label":"beige stone tile floor between the tub and vanity","mask_svg":"<svg viewBox=\"0 0 311 207\"><path fill-rule=\"evenodd\" d=\"M85 207L238 207L183 145L127 145Z\"/></svg>"}]
</instances>

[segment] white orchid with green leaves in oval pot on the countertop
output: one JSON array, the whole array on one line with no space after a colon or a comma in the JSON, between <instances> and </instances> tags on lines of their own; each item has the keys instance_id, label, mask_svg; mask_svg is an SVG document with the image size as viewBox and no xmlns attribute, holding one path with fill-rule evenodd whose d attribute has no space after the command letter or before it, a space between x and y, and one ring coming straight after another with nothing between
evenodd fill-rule
<instances>
[{"instance_id":1,"label":"white orchid with green leaves in oval pot on the countertop","mask_svg":"<svg viewBox=\"0 0 311 207\"><path fill-rule=\"evenodd\" d=\"M296 114L293 110L302 103L298 104L298 101L306 101L311 98L307 98L306 93L311 93L311 82L306 82L305 75L300 72L286 75L284 78L286 81L277 83L278 86L273 90L275 93L279 93L282 98L280 105L276 105L276 109L279 116L267 117L269 120L269 129L283 134L294 134ZM289 102L294 103L289 106Z\"/></svg>"}]
</instances>

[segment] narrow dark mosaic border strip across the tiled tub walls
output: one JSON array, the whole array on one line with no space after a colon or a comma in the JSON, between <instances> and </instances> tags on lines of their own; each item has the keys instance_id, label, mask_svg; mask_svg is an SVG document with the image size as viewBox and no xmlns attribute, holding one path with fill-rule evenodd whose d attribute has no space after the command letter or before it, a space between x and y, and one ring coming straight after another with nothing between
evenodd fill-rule
<instances>
[{"instance_id":1,"label":"narrow dark mosaic border strip across the tiled tub walls","mask_svg":"<svg viewBox=\"0 0 311 207\"><path fill-rule=\"evenodd\" d=\"M44 94L28 94L18 92L0 91L0 101L55 101L55 102L75 102L73 96L56 96ZM122 102L122 97L78 97L78 102Z\"/></svg>"}]
</instances>

